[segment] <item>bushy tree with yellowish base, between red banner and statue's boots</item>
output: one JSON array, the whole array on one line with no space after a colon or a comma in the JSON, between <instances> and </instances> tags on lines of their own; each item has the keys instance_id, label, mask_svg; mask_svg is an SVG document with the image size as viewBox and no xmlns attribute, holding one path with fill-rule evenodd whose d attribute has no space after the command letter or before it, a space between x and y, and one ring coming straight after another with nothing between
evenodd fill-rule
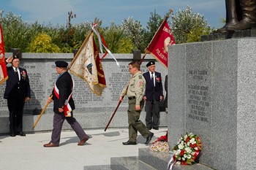
<instances>
[{"instance_id":1,"label":"bushy tree with yellowish base, between red banner and statue's boots","mask_svg":"<svg viewBox=\"0 0 256 170\"><path fill-rule=\"evenodd\" d=\"M200 36L208 35L211 30L203 15L193 13L191 7L172 15L171 29L176 44L199 42Z\"/></svg>"}]
</instances>

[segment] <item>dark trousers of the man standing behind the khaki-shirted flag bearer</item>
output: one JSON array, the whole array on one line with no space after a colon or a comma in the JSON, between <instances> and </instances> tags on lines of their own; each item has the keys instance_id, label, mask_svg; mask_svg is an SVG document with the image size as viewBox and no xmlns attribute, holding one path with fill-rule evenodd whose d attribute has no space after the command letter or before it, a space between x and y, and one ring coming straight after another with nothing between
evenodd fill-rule
<instances>
[{"instance_id":1,"label":"dark trousers of the man standing behind the khaki-shirted flag bearer","mask_svg":"<svg viewBox=\"0 0 256 170\"><path fill-rule=\"evenodd\" d=\"M146 101L146 126L148 129L158 128L159 126L159 101Z\"/></svg>"}]
</instances>

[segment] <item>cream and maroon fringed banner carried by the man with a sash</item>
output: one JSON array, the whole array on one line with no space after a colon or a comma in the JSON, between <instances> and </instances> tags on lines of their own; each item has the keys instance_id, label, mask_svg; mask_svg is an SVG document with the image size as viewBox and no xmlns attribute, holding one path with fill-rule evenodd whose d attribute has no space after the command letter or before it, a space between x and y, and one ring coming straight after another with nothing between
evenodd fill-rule
<instances>
[{"instance_id":1,"label":"cream and maroon fringed banner carried by the man with a sash","mask_svg":"<svg viewBox=\"0 0 256 170\"><path fill-rule=\"evenodd\" d=\"M93 93L97 96L102 95L102 90L106 87L105 74L92 31L70 63L69 70L72 74L85 80Z\"/></svg>"}]
</instances>

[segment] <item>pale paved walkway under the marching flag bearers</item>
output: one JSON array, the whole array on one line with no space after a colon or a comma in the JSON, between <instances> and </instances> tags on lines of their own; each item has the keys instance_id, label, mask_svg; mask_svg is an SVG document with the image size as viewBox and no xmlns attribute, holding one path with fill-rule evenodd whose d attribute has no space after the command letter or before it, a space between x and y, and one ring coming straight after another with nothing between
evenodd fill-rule
<instances>
[{"instance_id":1,"label":"pale paved walkway under the marching flag bearers","mask_svg":"<svg viewBox=\"0 0 256 170\"><path fill-rule=\"evenodd\" d=\"M59 147L45 148L51 132L26 134L26 136L0 136L1 170L83 170L84 166L110 165L111 157L138 156L138 148L146 148L143 136L137 145L124 146L128 129L85 130L91 139L78 146L74 131L62 131ZM154 138L165 135L167 128L152 130Z\"/></svg>"}]
</instances>

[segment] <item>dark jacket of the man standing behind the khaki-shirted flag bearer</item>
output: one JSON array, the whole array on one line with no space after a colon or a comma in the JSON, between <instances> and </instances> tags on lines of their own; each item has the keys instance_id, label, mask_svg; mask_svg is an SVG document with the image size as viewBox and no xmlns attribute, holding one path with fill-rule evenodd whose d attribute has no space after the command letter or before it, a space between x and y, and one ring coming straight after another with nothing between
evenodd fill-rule
<instances>
[{"instance_id":1,"label":"dark jacket of the man standing behind the khaki-shirted flag bearer","mask_svg":"<svg viewBox=\"0 0 256 170\"><path fill-rule=\"evenodd\" d=\"M155 86L154 84L151 82L151 75L149 72L146 72L143 74L143 77L146 80L146 98L147 101L151 101L154 98L159 101L160 100L160 96L162 95L162 77L161 77L161 73L159 72L155 72Z\"/></svg>"}]
</instances>

